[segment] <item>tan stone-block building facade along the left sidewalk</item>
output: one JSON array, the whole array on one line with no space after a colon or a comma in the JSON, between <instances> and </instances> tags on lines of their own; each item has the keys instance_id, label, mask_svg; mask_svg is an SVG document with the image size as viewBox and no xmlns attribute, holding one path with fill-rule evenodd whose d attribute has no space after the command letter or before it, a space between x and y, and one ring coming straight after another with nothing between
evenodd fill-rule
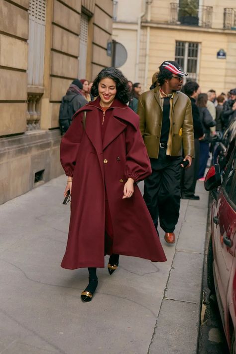
<instances>
[{"instance_id":1,"label":"tan stone-block building facade along the left sidewalk","mask_svg":"<svg viewBox=\"0 0 236 354\"><path fill-rule=\"evenodd\" d=\"M0 203L63 173L58 112L111 65L112 0L0 0Z\"/></svg>"}]
</instances>

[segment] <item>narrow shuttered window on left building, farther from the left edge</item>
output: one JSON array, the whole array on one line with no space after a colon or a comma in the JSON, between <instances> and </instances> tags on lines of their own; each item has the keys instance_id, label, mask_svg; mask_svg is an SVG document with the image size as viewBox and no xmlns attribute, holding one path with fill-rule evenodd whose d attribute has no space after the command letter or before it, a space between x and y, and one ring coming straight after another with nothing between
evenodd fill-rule
<instances>
[{"instance_id":1,"label":"narrow shuttered window on left building, farther from the left edge","mask_svg":"<svg viewBox=\"0 0 236 354\"><path fill-rule=\"evenodd\" d=\"M82 12L80 19L79 79L86 78L89 16Z\"/></svg>"}]
</instances>

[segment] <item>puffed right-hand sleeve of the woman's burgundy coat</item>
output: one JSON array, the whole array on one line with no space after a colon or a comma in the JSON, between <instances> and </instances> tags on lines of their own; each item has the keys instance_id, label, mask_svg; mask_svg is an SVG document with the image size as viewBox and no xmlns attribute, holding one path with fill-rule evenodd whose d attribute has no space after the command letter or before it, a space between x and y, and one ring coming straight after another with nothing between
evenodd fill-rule
<instances>
[{"instance_id":1,"label":"puffed right-hand sleeve of the woman's burgundy coat","mask_svg":"<svg viewBox=\"0 0 236 354\"><path fill-rule=\"evenodd\" d=\"M126 144L126 178L131 177L135 182L141 181L151 174L151 164L140 130L128 124L125 129Z\"/></svg>"}]
</instances>

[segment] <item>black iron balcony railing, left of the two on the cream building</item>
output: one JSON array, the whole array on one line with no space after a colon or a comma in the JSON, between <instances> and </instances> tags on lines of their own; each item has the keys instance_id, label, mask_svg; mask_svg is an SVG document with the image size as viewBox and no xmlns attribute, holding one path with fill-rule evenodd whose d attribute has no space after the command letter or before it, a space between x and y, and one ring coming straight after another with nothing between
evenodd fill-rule
<instances>
[{"instance_id":1,"label":"black iron balcony railing, left of the two on the cream building","mask_svg":"<svg viewBox=\"0 0 236 354\"><path fill-rule=\"evenodd\" d=\"M213 6L199 6L197 16L181 15L182 9L178 3L171 2L170 4L170 23L183 24L187 26L212 26Z\"/></svg>"}]
</instances>

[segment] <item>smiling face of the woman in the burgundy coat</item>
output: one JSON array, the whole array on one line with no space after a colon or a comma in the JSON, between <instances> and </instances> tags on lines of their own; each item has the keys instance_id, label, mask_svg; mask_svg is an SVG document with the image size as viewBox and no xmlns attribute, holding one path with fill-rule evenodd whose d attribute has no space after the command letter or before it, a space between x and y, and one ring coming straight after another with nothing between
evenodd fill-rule
<instances>
[{"instance_id":1,"label":"smiling face of the woman in the burgundy coat","mask_svg":"<svg viewBox=\"0 0 236 354\"><path fill-rule=\"evenodd\" d=\"M98 91L101 98L100 105L110 107L117 94L117 84L113 79L102 79L98 85Z\"/></svg>"}]
</instances>

